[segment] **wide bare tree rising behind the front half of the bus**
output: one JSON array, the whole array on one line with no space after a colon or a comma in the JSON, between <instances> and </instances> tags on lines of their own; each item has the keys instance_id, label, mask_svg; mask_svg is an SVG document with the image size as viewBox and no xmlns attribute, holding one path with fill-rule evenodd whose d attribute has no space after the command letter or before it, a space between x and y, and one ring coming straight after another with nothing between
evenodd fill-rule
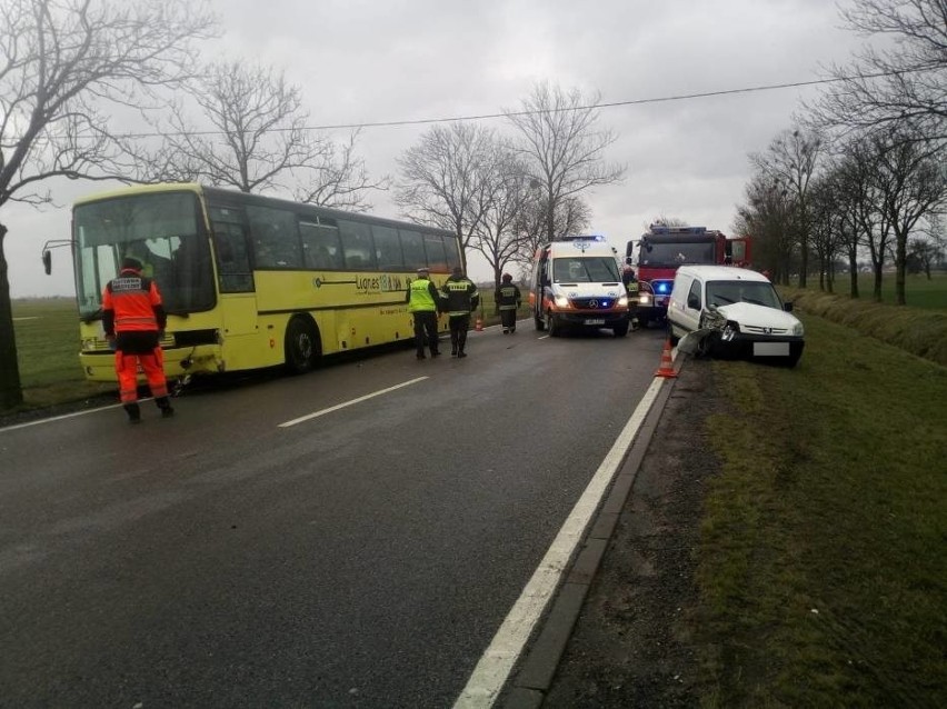
<instances>
[{"instance_id":1,"label":"wide bare tree rising behind the front half of the bus","mask_svg":"<svg viewBox=\"0 0 947 709\"><path fill-rule=\"evenodd\" d=\"M146 181L206 181L241 192L293 193L298 201L368 209L371 181L357 158L358 131L336 146L309 128L298 87L282 72L240 61L209 66L191 82L190 100L212 127L205 130L175 103L166 143L148 160Z\"/></svg>"}]
</instances>

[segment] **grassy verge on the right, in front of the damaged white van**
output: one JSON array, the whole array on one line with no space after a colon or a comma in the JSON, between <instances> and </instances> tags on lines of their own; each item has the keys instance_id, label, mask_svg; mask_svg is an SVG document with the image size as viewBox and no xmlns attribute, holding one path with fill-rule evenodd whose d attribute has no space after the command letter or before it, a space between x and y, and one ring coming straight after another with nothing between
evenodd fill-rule
<instances>
[{"instance_id":1,"label":"grassy verge on the right, in front of the damaged white van","mask_svg":"<svg viewBox=\"0 0 947 709\"><path fill-rule=\"evenodd\" d=\"M804 322L796 370L715 363L705 703L947 706L947 369Z\"/></svg>"}]
</instances>

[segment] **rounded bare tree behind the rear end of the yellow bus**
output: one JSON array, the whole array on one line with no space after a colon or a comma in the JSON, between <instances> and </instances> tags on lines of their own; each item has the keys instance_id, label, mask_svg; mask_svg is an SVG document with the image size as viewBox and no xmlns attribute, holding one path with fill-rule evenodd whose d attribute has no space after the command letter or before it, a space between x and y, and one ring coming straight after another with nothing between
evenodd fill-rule
<instances>
[{"instance_id":1,"label":"rounded bare tree behind the rear end of the yellow bus","mask_svg":"<svg viewBox=\"0 0 947 709\"><path fill-rule=\"evenodd\" d=\"M490 200L494 131L477 123L435 126L398 158L396 201L406 216L453 231L467 250Z\"/></svg>"}]
</instances>

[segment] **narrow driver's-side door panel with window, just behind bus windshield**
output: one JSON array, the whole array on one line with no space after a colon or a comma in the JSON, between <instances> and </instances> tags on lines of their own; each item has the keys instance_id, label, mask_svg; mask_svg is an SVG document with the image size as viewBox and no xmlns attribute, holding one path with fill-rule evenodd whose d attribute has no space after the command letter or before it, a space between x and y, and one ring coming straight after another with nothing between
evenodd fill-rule
<instances>
[{"instance_id":1,"label":"narrow driver's-side door panel with window, just behind bus windshield","mask_svg":"<svg viewBox=\"0 0 947 709\"><path fill-rule=\"evenodd\" d=\"M257 291L243 212L238 208L211 206L210 226L220 292L221 334L225 342L232 337L257 334Z\"/></svg>"}]
</instances>

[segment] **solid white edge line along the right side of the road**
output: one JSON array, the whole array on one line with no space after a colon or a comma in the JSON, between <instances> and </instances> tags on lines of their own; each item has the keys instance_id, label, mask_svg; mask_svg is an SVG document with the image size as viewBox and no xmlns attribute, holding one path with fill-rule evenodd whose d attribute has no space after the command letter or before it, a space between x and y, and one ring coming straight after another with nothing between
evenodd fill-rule
<instances>
[{"instance_id":1,"label":"solid white edge line along the right side of the road","mask_svg":"<svg viewBox=\"0 0 947 709\"><path fill-rule=\"evenodd\" d=\"M532 578L522 589L497 635L494 636L490 647L477 662L474 673L467 680L467 686L453 705L455 709L487 709L496 701L510 670L542 617L546 606L559 587L569 559L585 538L586 528L598 510L611 479L621 466L625 453L631 446L638 429L641 428L645 417L648 416L664 381L664 379L651 381L651 386L648 387L638 407L631 413L631 418L618 435L611 450L601 461L556 539L552 540L539 567L534 571Z\"/></svg>"}]
</instances>

